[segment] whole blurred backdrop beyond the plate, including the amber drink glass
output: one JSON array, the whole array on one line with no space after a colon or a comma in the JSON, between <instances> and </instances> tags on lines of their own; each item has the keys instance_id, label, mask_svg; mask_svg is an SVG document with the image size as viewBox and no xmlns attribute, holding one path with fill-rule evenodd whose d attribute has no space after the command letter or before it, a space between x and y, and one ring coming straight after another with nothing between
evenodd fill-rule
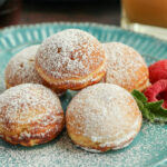
<instances>
[{"instance_id":1,"label":"whole blurred backdrop beyond the plate, including the amber drink glass","mask_svg":"<svg viewBox=\"0 0 167 167\"><path fill-rule=\"evenodd\" d=\"M0 28L56 21L116 24L167 40L167 0L0 0Z\"/></svg>"}]
</instances>

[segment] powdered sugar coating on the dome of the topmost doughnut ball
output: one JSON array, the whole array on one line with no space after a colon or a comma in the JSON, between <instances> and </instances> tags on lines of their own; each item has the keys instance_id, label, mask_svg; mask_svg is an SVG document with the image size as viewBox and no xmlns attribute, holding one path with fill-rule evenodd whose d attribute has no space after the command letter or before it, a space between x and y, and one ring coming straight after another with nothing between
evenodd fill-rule
<instances>
[{"instance_id":1,"label":"powdered sugar coating on the dome of the topmost doughnut ball","mask_svg":"<svg viewBox=\"0 0 167 167\"><path fill-rule=\"evenodd\" d=\"M37 52L37 63L56 79L87 76L105 60L101 43L78 29L63 30L49 37Z\"/></svg>"}]
</instances>

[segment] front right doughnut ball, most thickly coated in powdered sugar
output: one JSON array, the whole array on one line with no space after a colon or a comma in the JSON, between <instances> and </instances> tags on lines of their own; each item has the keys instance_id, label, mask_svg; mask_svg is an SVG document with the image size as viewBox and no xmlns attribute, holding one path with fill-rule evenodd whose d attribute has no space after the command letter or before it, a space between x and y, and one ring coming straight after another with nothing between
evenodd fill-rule
<instances>
[{"instance_id":1,"label":"front right doughnut ball, most thickly coated in powdered sugar","mask_svg":"<svg viewBox=\"0 0 167 167\"><path fill-rule=\"evenodd\" d=\"M132 96L111 84L82 89L70 102L66 125L71 140L88 151L128 146L141 127L143 117Z\"/></svg>"}]
</instances>

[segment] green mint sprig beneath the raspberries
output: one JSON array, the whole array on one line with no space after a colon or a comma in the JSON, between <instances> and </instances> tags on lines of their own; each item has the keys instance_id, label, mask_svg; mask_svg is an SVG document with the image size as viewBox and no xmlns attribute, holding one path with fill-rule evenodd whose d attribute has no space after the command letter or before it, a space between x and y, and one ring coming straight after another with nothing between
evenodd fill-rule
<instances>
[{"instance_id":1,"label":"green mint sprig beneath the raspberries","mask_svg":"<svg viewBox=\"0 0 167 167\"><path fill-rule=\"evenodd\" d=\"M143 112L143 117L148 119L151 122L167 122L167 109L163 108L161 105L164 100L147 102L145 95L138 90L132 90L131 95L134 96L137 105Z\"/></svg>"}]
</instances>

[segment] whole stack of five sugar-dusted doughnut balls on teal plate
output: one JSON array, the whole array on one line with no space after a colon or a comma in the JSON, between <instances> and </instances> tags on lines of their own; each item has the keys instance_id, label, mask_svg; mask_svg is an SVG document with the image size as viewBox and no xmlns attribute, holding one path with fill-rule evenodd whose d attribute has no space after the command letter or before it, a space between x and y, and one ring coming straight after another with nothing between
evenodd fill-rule
<instances>
[{"instance_id":1,"label":"whole stack of five sugar-dusted doughnut balls on teal plate","mask_svg":"<svg viewBox=\"0 0 167 167\"><path fill-rule=\"evenodd\" d=\"M89 151L124 148L141 127L128 91L143 91L148 84L147 66L132 48L102 45L79 29L60 31L9 61L10 89L0 95L0 136L23 146L56 138L65 125L57 95L70 89L81 90L66 112L71 140Z\"/></svg>"}]
</instances>

